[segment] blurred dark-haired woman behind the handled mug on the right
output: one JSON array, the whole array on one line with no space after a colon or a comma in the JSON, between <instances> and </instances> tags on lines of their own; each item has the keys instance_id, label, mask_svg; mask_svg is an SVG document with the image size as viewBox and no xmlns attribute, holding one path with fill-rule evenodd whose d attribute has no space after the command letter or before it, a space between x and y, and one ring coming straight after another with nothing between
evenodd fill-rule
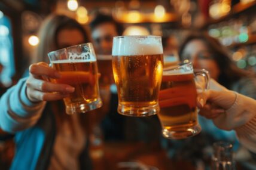
<instances>
[{"instance_id":1,"label":"blurred dark-haired woman behind the handled mug on the right","mask_svg":"<svg viewBox=\"0 0 256 170\"><path fill-rule=\"evenodd\" d=\"M193 33L188 36L181 45L179 58L181 61L192 61L194 69L208 70L211 78L225 86L225 88L256 98L256 78L254 74L236 67L220 42L206 33ZM214 81L211 81L210 88L214 88L212 82ZM223 110L219 110L219 112L223 112ZM202 126L202 132L199 135L169 143L169 153L172 157L187 159L187 157L194 154L202 159L207 155L204 150L207 150L209 146L212 146L212 143L218 140L234 143L234 149L237 150L239 142L234 131L218 129L212 121L202 116L199 116L199 122ZM176 146L176 149L172 149L173 146Z\"/></svg>"}]
</instances>

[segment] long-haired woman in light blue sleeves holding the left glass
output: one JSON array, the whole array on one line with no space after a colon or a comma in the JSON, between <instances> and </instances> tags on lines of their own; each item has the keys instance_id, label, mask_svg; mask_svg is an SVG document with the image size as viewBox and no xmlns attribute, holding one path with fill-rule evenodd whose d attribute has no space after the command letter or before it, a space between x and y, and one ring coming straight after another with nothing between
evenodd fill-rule
<instances>
[{"instance_id":1,"label":"long-haired woman in light blue sleeves holding the left glass","mask_svg":"<svg viewBox=\"0 0 256 170\"><path fill-rule=\"evenodd\" d=\"M0 128L16 143L10 169L92 169L90 114L67 115L62 99L74 87L42 79L60 76L48 66L48 52L89 42L89 35L77 21L53 15L42 23L39 39L29 77L0 100Z\"/></svg>"}]
</instances>

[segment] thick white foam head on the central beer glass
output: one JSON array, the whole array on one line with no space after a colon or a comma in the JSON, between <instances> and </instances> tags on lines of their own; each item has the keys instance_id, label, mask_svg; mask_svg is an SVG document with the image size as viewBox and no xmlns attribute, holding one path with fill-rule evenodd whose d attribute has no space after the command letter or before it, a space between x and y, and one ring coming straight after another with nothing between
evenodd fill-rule
<instances>
[{"instance_id":1,"label":"thick white foam head on the central beer glass","mask_svg":"<svg viewBox=\"0 0 256 170\"><path fill-rule=\"evenodd\" d=\"M151 36L148 36L151 37ZM139 38L138 36L122 36L114 38L112 55L152 55L163 54L163 47L158 38Z\"/></svg>"}]
</instances>

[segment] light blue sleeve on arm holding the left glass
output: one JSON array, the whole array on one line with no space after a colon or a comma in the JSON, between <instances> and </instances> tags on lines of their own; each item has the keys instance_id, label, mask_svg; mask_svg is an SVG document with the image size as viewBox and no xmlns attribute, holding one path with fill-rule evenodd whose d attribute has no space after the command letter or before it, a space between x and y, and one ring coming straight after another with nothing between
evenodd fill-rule
<instances>
[{"instance_id":1,"label":"light blue sleeve on arm holding the left glass","mask_svg":"<svg viewBox=\"0 0 256 170\"><path fill-rule=\"evenodd\" d=\"M15 133L29 128L41 117L45 102L32 103L26 95L26 79L8 89L0 98L0 128Z\"/></svg>"}]
</instances>

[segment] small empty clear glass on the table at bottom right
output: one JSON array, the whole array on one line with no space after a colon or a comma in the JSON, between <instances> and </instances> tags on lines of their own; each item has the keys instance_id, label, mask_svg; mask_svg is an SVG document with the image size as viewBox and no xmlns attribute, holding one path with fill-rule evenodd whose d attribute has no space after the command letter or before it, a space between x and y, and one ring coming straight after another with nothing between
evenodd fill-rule
<instances>
[{"instance_id":1,"label":"small empty clear glass on the table at bottom right","mask_svg":"<svg viewBox=\"0 0 256 170\"><path fill-rule=\"evenodd\" d=\"M228 142L218 141L214 143L214 155L212 156L212 170L235 170L236 163L233 159L233 145Z\"/></svg>"}]
</instances>

